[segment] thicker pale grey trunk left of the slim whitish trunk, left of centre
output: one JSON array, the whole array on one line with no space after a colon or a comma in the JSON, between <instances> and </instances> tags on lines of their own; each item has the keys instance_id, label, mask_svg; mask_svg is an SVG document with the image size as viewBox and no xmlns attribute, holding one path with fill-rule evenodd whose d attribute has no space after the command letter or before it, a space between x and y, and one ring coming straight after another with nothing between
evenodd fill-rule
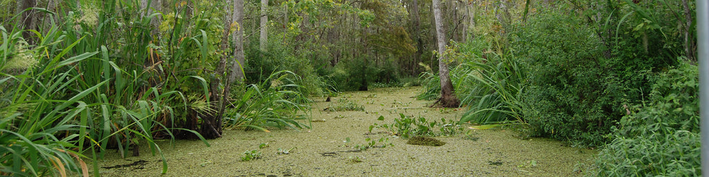
<instances>
[{"instance_id":1,"label":"thicker pale grey trunk left of the slim whitish trunk, left of centre","mask_svg":"<svg viewBox=\"0 0 709 177\"><path fill-rule=\"evenodd\" d=\"M236 30L233 32L234 62L228 78L231 84L244 80L244 0L234 0L232 20L236 22Z\"/></svg>"}]
</instances>

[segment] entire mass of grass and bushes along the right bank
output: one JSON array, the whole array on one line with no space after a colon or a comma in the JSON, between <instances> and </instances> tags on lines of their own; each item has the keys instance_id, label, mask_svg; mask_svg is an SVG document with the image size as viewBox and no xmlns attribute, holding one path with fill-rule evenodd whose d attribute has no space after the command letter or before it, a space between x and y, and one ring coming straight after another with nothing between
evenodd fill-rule
<instances>
[{"instance_id":1,"label":"entire mass of grass and bushes along the right bank","mask_svg":"<svg viewBox=\"0 0 709 177\"><path fill-rule=\"evenodd\" d=\"M532 136L601 147L598 176L700 174L698 69L683 43L696 32L677 25L685 21L681 2L530 7L527 21L503 25L510 33L452 42L447 55L460 64L451 78L469 108L461 122L517 121ZM687 7L693 14L693 3ZM437 74L422 77L418 98L436 98Z\"/></svg>"}]
</instances>

